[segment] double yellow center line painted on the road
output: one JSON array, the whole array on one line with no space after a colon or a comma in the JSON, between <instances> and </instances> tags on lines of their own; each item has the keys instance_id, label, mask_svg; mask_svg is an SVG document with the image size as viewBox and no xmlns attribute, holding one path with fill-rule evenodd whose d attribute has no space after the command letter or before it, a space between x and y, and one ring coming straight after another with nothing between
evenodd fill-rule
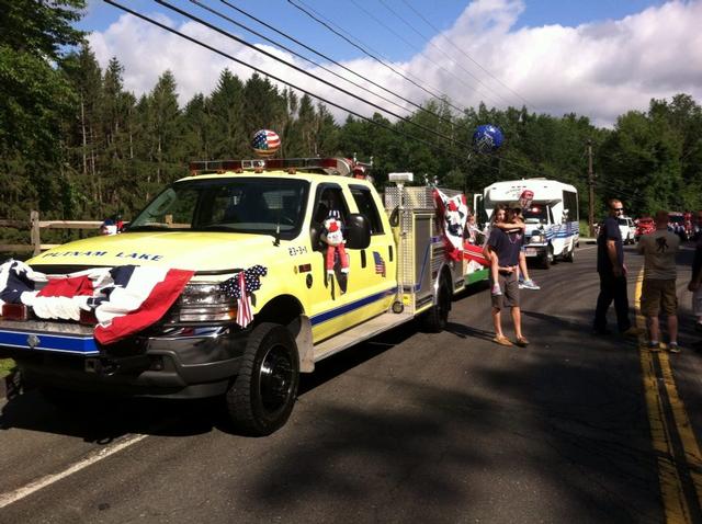
<instances>
[{"instance_id":1,"label":"double yellow center line painted on the road","mask_svg":"<svg viewBox=\"0 0 702 524\"><path fill-rule=\"evenodd\" d=\"M654 353L646 348L646 322L641 314L641 292L644 281L643 269L636 280L634 301L636 307L636 326L642 330L638 337L639 356L643 371L644 388L646 391L646 406L650 423L650 435L654 449L657 453L658 479L660 492L666 512L666 521L670 523L691 522L688 500L684 495L680 474L678 471L676 454L670 437L670 429L666 422L665 405L658 388L658 377L654 365ZM665 385L665 391L672 411L675 429L682 444L684 453L683 466L687 466L692 483L698 495L699 508L702 509L702 455L698 446L694 432L690 424L684 405L678 395L678 390L670 367L670 360L666 352L656 353Z\"/></svg>"}]
</instances>

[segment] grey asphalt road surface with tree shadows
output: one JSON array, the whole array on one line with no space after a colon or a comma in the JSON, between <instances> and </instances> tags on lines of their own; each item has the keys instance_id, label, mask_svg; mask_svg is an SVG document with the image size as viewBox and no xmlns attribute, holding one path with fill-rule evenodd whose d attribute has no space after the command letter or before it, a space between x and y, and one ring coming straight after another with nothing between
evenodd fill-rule
<instances>
[{"instance_id":1,"label":"grey asphalt road surface with tree shadows","mask_svg":"<svg viewBox=\"0 0 702 524\"><path fill-rule=\"evenodd\" d=\"M633 303L641 260L627 257ZM401 327L320 363L287 425L263 438L228 432L215 402L66 414L36 391L0 400L0 522L664 522L671 477L644 356L636 341L590 334L593 267L582 244L575 263L532 271L528 349L490 342L489 292L472 289L443 333ZM680 267L680 401L664 408L683 405L702 436ZM689 522L702 517L692 458L671 458Z\"/></svg>"}]
</instances>

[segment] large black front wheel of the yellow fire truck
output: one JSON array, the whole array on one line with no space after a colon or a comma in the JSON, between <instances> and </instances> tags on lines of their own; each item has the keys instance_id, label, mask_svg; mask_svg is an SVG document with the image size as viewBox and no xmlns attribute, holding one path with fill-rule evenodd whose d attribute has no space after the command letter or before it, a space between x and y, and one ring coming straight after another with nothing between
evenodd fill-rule
<instances>
[{"instance_id":1,"label":"large black front wheel of the yellow fire truck","mask_svg":"<svg viewBox=\"0 0 702 524\"><path fill-rule=\"evenodd\" d=\"M226 394L227 410L246 434L270 435L287 422L299 383L299 360L293 335L263 322L246 344L239 374Z\"/></svg>"}]
</instances>

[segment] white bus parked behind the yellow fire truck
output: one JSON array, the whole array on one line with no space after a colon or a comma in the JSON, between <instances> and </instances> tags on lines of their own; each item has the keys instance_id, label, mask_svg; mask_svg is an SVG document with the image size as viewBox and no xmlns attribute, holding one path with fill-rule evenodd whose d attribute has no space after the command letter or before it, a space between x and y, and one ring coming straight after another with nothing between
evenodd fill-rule
<instances>
[{"instance_id":1,"label":"white bus parked behind the yellow fire truck","mask_svg":"<svg viewBox=\"0 0 702 524\"><path fill-rule=\"evenodd\" d=\"M544 269L548 269L556 258L573 262L580 240L578 190L575 186L547 179L496 182L483 192L487 219L497 204L517 204L524 190L534 193L531 205L523 209L526 257L537 259Z\"/></svg>"}]
</instances>

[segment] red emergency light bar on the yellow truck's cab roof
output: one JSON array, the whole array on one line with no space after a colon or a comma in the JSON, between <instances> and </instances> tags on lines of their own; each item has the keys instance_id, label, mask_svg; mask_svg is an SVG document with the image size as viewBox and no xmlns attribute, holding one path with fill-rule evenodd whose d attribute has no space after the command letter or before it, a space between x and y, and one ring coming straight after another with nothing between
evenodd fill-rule
<instances>
[{"instance_id":1,"label":"red emergency light bar on the yellow truck's cab roof","mask_svg":"<svg viewBox=\"0 0 702 524\"><path fill-rule=\"evenodd\" d=\"M190 173L194 176L197 174L224 173L227 171L235 173L242 173L245 171L253 171L257 173L263 171L287 171L288 173L295 173L297 170L320 170L327 174L349 176L354 174L360 168L365 167L370 167L370 164L354 162L346 158L257 158L253 160L203 160L190 162Z\"/></svg>"}]
</instances>

